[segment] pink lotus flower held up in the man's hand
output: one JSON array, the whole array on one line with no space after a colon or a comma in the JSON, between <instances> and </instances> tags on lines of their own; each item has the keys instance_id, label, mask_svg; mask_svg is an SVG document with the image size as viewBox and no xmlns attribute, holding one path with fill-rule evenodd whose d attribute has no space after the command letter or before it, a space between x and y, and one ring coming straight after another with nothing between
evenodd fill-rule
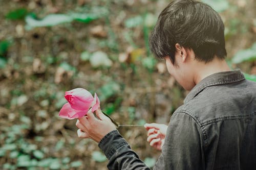
<instances>
[{"instance_id":1,"label":"pink lotus flower held up in the man's hand","mask_svg":"<svg viewBox=\"0 0 256 170\"><path fill-rule=\"evenodd\" d=\"M59 116L67 119L80 118L87 114L92 107L92 112L100 108L97 94L92 94L83 88L75 88L65 92L65 98L69 103L62 106Z\"/></svg>"}]
</instances>

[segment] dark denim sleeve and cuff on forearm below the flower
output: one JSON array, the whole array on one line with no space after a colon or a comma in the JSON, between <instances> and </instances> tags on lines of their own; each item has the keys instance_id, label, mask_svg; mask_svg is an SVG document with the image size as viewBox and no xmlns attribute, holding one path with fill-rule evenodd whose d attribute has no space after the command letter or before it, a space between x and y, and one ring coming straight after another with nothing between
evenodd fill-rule
<instances>
[{"instance_id":1,"label":"dark denim sleeve and cuff on forearm below the flower","mask_svg":"<svg viewBox=\"0 0 256 170\"><path fill-rule=\"evenodd\" d=\"M99 142L99 148L109 159L109 169L150 169L139 159L139 156L117 130L104 136Z\"/></svg>"}]
</instances>

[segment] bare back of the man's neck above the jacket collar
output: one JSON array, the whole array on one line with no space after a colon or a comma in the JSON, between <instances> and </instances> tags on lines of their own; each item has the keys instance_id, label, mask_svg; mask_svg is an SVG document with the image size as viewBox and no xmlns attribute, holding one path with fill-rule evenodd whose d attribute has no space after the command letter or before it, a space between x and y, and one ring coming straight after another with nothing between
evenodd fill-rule
<instances>
[{"instance_id":1,"label":"bare back of the man's neck above the jacket collar","mask_svg":"<svg viewBox=\"0 0 256 170\"><path fill-rule=\"evenodd\" d=\"M229 71L230 68L225 60L220 60L217 57L214 60L204 63L197 63L196 75L194 78L195 84L198 84L204 78L221 71Z\"/></svg>"}]
</instances>

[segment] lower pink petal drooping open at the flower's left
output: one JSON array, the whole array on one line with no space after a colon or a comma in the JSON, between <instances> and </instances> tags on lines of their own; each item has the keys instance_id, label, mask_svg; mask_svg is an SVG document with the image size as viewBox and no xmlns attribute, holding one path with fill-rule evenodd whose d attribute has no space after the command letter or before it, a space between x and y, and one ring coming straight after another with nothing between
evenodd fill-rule
<instances>
[{"instance_id":1,"label":"lower pink petal drooping open at the flower's left","mask_svg":"<svg viewBox=\"0 0 256 170\"><path fill-rule=\"evenodd\" d=\"M79 118L87 114L88 111L79 111L71 108L69 103L62 106L59 111L59 116L67 119Z\"/></svg>"}]
</instances>

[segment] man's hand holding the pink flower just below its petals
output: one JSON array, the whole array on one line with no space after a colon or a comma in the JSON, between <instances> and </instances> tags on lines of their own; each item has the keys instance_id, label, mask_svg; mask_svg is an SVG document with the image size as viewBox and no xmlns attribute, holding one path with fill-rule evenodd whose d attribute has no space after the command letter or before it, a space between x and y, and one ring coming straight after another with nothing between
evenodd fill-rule
<instances>
[{"instance_id":1,"label":"man's hand holding the pink flower just below its petals","mask_svg":"<svg viewBox=\"0 0 256 170\"><path fill-rule=\"evenodd\" d=\"M109 117L106 117L100 109L95 111L96 116L91 112L86 116L77 119L76 126L79 138L90 138L97 143L109 132L116 129Z\"/></svg>"}]
</instances>

